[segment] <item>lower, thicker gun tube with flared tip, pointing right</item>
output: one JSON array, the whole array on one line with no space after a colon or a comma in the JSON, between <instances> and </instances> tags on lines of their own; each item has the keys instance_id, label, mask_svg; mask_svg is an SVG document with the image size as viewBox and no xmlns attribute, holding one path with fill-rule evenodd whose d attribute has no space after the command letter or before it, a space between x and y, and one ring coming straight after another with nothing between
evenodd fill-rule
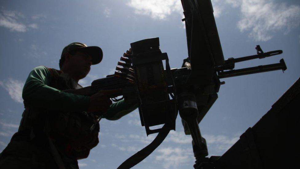
<instances>
[{"instance_id":1,"label":"lower, thicker gun tube with flared tip, pointing right","mask_svg":"<svg viewBox=\"0 0 300 169\"><path fill-rule=\"evenodd\" d=\"M270 65L263 65L263 66L256 66L256 67L249 67L244 69L238 70L229 70L225 72L218 72L219 78L229 78L234 76L241 76L246 74L254 74L254 73L261 73L261 72L268 72L273 70L286 70L286 64L283 59L280 59L279 63L270 64Z\"/></svg>"}]
</instances>

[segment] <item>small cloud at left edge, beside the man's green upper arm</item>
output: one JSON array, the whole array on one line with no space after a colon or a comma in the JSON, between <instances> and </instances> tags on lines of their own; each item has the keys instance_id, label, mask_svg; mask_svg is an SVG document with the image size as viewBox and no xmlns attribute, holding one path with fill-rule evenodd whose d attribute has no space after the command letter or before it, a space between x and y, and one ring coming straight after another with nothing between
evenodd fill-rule
<instances>
[{"instance_id":1,"label":"small cloud at left edge, beside the man's green upper arm","mask_svg":"<svg viewBox=\"0 0 300 169\"><path fill-rule=\"evenodd\" d=\"M24 86L24 82L9 78L8 80L0 81L0 86L8 91L11 99L13 99L15 102L23 103L22 89Z\"/></svg>"}]
</instances>

